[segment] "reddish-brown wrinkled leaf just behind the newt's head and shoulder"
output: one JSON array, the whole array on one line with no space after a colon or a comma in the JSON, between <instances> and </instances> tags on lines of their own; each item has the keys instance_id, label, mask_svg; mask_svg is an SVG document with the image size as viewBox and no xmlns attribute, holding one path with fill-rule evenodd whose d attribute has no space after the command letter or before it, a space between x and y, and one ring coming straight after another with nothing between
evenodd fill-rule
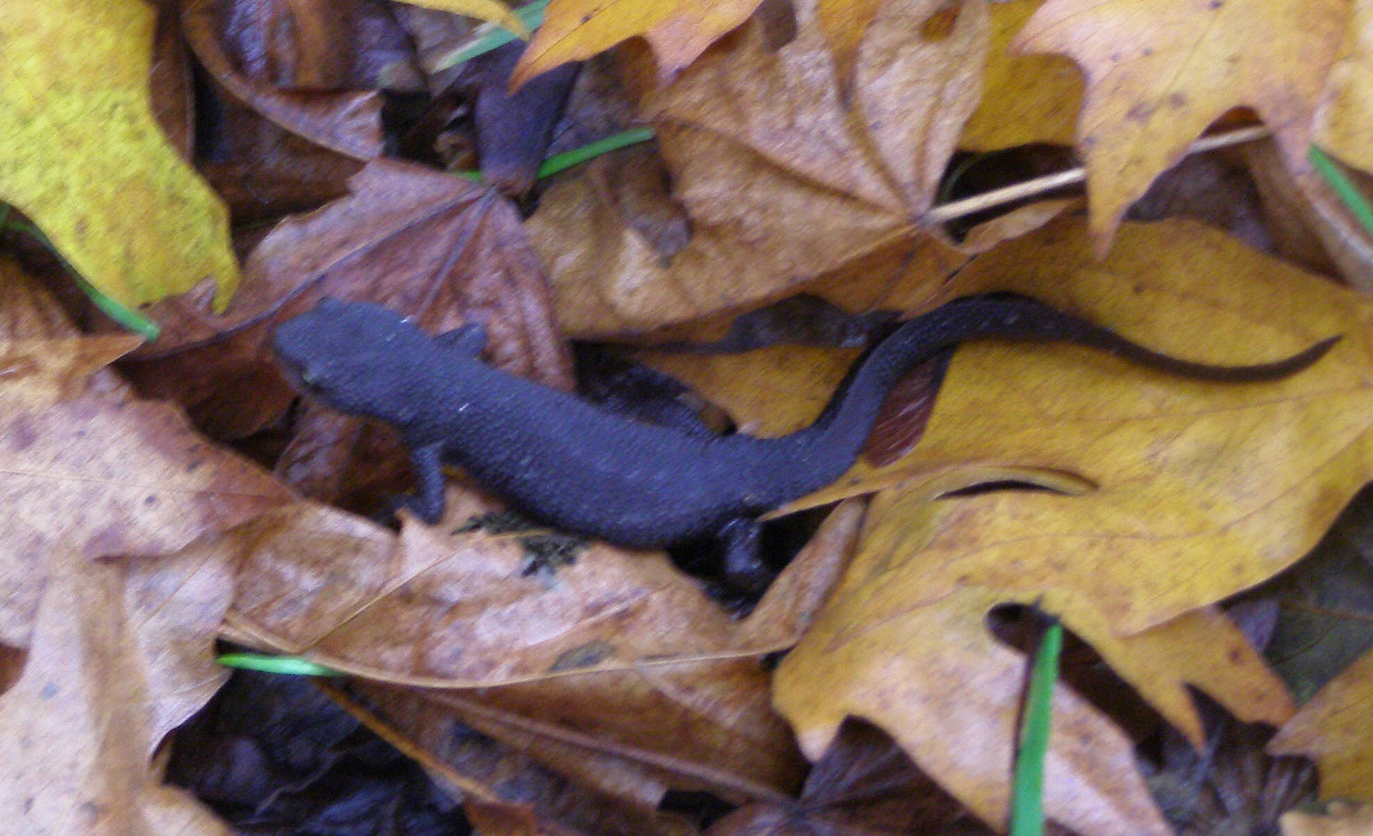
<instances>
[{"instance_id":1,"label":"reddish-brown wrinkled leaf just behind the newt's head and shoulder","mask_svg":"<svg viewBox=\"0 0 1373 836\"><path fill-rule=\"evenodd\" d=\"M349 188L349 198L279 224L249 258L253 281L292 310L330 295L387 305L432 331L476 320L493 365L570 386L542 269L509 202L390 161L368 165Z\"/></svg>"}]
</instances>

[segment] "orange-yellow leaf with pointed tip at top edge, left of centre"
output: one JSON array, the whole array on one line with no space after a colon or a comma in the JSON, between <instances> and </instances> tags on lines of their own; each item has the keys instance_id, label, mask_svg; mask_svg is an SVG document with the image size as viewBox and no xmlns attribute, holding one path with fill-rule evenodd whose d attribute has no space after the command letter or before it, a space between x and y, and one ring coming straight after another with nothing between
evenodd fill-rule
<instances>
[{"instance_id":1,"label":"orange-yellow leaf with pointed tip at top edge, left of centre","mask_svg":"<svg viewBox=\"0 0 1373 836\"><path fill-rule=\"evenodd\" d=\"M660 73L696 60L706 47L754 14L762 0L552 0L511 74L519 86L559 65L582 60L643 36Z\"/></svg>"}]
</instances>

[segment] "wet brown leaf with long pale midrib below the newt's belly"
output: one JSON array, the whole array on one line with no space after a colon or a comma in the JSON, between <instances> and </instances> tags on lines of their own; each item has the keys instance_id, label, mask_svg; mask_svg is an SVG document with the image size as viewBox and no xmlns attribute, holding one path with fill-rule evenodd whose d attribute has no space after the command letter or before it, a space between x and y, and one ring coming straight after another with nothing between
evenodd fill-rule
<instances>
[{"instance_id":1,"label":"wet brown leaf with long pale midrib below the newt's belly","mask_svg":"<svg viewBox=\"0 0 1373 836\"><path fill-rule=\"evenodd\" d=\"M398 539L323 509L262 518L240 530L227 623L383 682L483 686L426 699L549 758L622 758L743 798L796 780L758 659L789 647L818 611L857 507L831 516L743 622L658 553L566 538L555 556L518 535L461 531L487 508L450 490L443 524L406 524Z\"/></svg>"}]
</instances>

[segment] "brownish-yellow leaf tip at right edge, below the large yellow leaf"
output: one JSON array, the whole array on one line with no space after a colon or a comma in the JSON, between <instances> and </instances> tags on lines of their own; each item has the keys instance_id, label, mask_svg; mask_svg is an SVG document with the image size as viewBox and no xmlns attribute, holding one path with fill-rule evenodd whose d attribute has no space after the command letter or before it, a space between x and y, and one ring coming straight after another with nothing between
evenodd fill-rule
<instances>
[{"instance_id":1,"label":"brownish-yellow leaf tip at right edge, below the large yellow leaf","mask_svg":"<svg viewBox=\"0 0 1373 836\"><path fill-rule=\"evenodd\" d=\"M1278 729L1274 755L1306 755L1321 769L1321 798L1373 802L1373 653L1330 680Z\"/></svg>"}]
</instances>

